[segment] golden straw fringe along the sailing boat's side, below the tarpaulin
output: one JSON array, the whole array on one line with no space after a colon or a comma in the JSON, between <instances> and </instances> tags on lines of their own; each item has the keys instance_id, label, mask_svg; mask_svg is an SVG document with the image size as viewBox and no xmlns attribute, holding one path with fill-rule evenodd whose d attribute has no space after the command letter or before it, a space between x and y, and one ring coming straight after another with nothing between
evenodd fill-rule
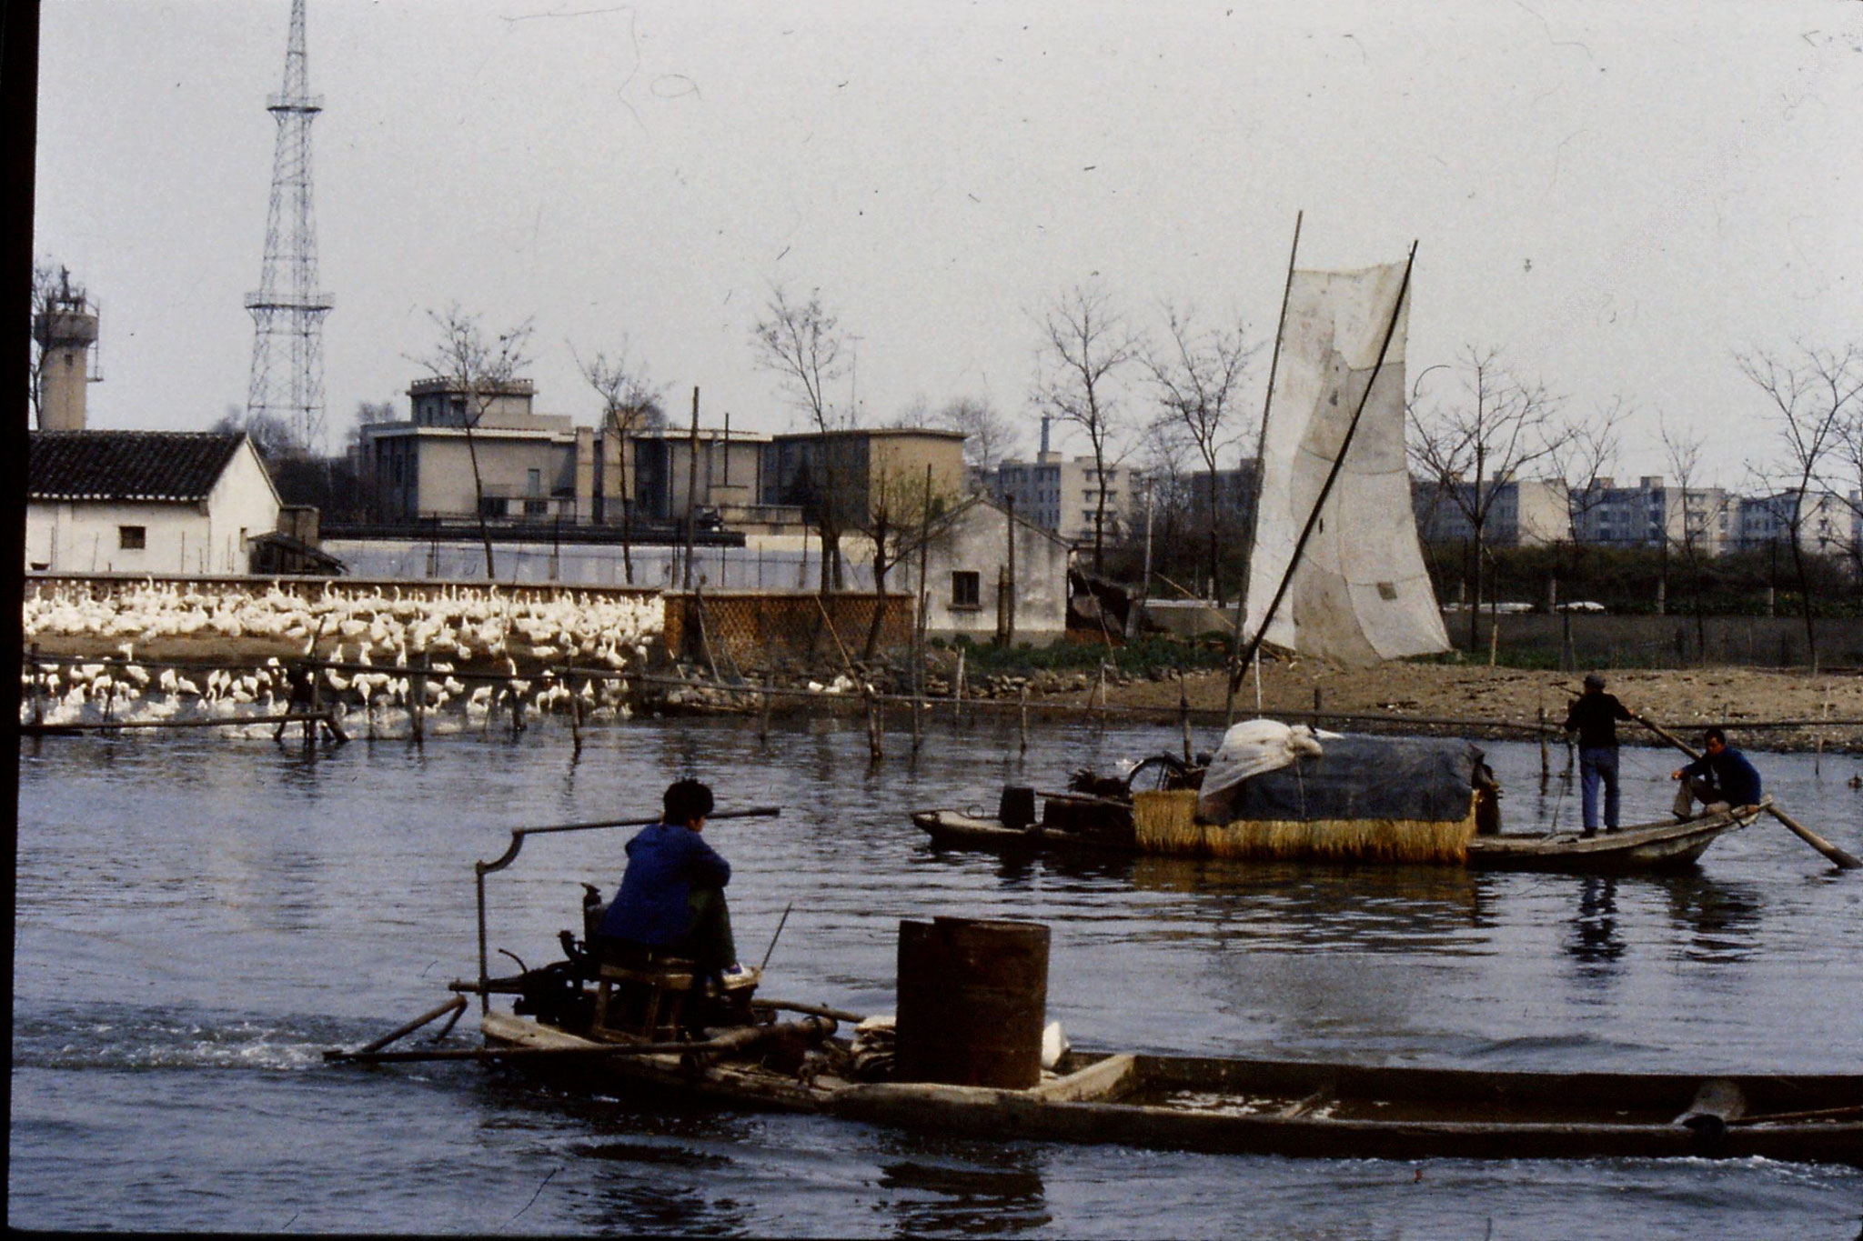
<instances>
[{"instance_id":1,"label":"golden straw fringe along the sailing boat's side, below the tarpaulin","mask_svg":"<svg viewBox=\"0 0 1863 1241\"><path fill-rule=\"evenodd\" d=\"M1142 852L1209 858L1315 858L1323 861L1468 861L1475 798L1468 815L1431 819L1263 819L1228 824L1196 821L1194 789L1133 793L1133 826Z\"/></svg>"}]
</instances>

